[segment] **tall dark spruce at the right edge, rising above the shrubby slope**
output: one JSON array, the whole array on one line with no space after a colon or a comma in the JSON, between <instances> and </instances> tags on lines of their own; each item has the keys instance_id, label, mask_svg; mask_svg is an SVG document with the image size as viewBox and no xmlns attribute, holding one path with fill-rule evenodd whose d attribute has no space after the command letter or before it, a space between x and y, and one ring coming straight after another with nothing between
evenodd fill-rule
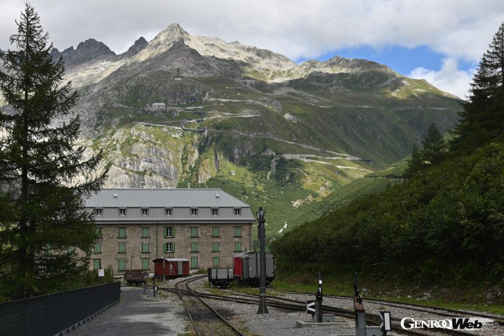
<instances>
[{"instance_id":1,"label":"tall dark spruce at the right edge, rising above the shrubby slope","mask_svg":"<svg viewBox=\"0 0 504 336\"><path fill-rule=\"evenodd\" d=\"M504 136L504 23L483 55L469 90L451 150L470 152Z\"/></svg>"}]
</instances>

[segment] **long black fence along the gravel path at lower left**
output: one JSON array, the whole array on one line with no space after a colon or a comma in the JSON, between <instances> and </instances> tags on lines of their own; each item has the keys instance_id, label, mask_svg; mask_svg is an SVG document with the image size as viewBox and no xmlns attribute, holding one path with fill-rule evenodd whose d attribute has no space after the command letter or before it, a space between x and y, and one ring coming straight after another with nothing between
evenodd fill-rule
<instances>
[{"instance_id":1,"label":"long black fence along the gravel path at lower left","mask_svg":"<svg viewBox=\"0 0 504 336\"><path fill-rule=\"evenodd\" d=\"M120 283L0 303L0 335L55 335L120 299Z\"/></svg>"}]
</instances>

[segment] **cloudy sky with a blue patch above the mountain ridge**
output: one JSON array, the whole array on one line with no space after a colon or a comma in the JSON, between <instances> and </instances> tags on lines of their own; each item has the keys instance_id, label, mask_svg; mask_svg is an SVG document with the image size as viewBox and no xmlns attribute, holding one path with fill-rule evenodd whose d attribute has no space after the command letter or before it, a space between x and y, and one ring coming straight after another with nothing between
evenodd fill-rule
<instances>
[{"instance_id":1,"label":"cloudy sky with a blue patch above the mountain ridge","mask_svg":"<svg viewBox=\"0 0 504 336\"><path fill-rule=\"evenodd\" d=\"M123 52L177 22L191 34L238 40L296 62L366 58L459 97L504 22L501 0L32 0L58 49L87 38ZM24 0L0 3L0 48L9 47Z\"/></svg>"}]
</instances>

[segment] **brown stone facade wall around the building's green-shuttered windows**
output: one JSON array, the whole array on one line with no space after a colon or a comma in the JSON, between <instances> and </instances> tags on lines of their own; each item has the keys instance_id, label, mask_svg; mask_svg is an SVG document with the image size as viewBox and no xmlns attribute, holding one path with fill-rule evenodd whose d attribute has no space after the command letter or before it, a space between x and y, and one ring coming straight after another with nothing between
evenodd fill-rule
<instances>
[{"instance_id":1,"label":"brown stone facade wall around the building's green-shuttered windows","mask_svg":"<svg viewBox=\"0 0 504 336\"><path fill-rule=\"evenodd\" d=\"M101 260L101 267L112 267L113 275L122 275L119 271L119 259L124 259L125 270L142 268L142 258L149 258L149 272L154 272L156 258L198 257L198 268L213 267L213 258L219 257L219 267L233 267L232 256L240 253L235 250L235 242L241 242L241 251L250 251L252 247L251 227L249 223L225 224L100 224L102 230L101 253L91 253L90 268L94 259ZM174 237L164 237L164 227L175 228ZM191 237L191 228L198 228L198 236ZM219 237L212 237L212 228L219 228ZM234 236L234 228L241 227L241 237ZM118 238L119 228L126 229L126 237ZM149 228L149 237L142 237L142 228ZM175 243L173 252L165 252L163 243ZM219 242L219 251L213 251L213 243ZM125 252L119 253L119 243L125 243ZM142 252L142 243L149 243L149 252ZM191 243L198 243L198 251L191 251Z\"/></svg>"}]
</instances>

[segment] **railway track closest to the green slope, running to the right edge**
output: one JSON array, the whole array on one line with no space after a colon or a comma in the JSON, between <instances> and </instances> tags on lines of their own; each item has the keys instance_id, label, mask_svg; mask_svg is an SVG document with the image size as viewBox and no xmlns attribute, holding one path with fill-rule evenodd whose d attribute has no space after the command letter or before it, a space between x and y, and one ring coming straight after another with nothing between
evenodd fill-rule
<instances>
[{"instance_id":1,"label":"railway track closest to the green slope, running to the right edge","mask_svg":"<svg viewBox=\"0 0 504 336\"><path fill-rule=\"evenodd\" d=\"M286 292L286 293L292 293L292 294L313 295L313 293L309 293L309 292L298 292L298 291L280 290L280 289L272 289L272 290L277 291L277 292ZM324 294L324 297L343 299L343 300L353 300L353 297L347 296L347 295ZM475 313L475 312L469 312L469 311L458 310L458 309L433 307L433 306L427 306L427 305L422 305L422 304L417 304L417 303L405 303L405 302L390 301L390 300L383 300L383 299L365 298L364 300L380 303L380 304L383 304L383 305L386 305L389 307L405 308L405 309L410 309L410 310L415 310L415 311L420 311L420 312L425 312L425 313L434 313L439 316L455 317L454 314L457 314L457 316L470 315L470 316L475 316L475 317L491 318L499 325L504 325L504 320L499 319L498 317L496 317L494 315L489 315L489 314L485 314L485 313Z\"/></svg>"}]
</instances>

